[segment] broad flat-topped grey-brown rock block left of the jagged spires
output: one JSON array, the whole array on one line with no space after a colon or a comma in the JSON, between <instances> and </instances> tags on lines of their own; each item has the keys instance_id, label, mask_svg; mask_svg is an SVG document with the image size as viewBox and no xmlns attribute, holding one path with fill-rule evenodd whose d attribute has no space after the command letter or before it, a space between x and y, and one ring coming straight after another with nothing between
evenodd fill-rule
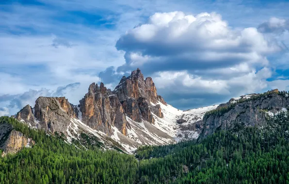
<instances>
[{"instance_id":1,"label":"broad flat-topped grey-brown rock block left of the jagged spires","mask_svg":"<svg viewBox=\"0 0 289 184\"><path fill-rule=\"evenodd\" d=\"M52 133L66 134L70 119L76 116L68 100L64 97L39 97L35 102L34 116L39 121L38 128Z\"/></svg>"}]
</instances>

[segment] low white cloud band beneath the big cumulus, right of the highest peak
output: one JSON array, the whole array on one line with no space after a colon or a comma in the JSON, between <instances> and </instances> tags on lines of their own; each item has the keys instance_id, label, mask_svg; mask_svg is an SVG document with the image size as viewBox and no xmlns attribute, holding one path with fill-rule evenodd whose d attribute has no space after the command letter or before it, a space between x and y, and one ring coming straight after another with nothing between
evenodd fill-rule
<instances>
[{"instance_id":1,"label":"low white cloud band beneath the big cumulus, right of the highest peak","mask_svg":"<svg viewBox=\"0 0 289 184\"><path fill-rule=\"evenodd\" d=\"M153 79L158 89L165 89L167 92L242 95L266 89L268 87L266 79L271 76L272 71L263 68L258 72L252 71L226 79L204 79L187 71L159 72Z\"/></svg>"}]
</instances>

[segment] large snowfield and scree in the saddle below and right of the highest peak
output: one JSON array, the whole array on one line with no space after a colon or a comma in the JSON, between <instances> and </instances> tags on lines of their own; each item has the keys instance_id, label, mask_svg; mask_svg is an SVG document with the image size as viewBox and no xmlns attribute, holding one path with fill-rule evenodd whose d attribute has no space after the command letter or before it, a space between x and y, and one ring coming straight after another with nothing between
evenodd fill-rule
<instances>
[{"instance_id":1,"label":"large snowfield and scree in the saddle below and right of the highest peak","mask_svg":"<svg viewBox=\"0 0 289 184\"><path fill-rule=\"evenodd\" d=\"M202 121L207 111L218 107L218 105L215 105L183 111L171 105L164 105L161 102L151 103L151 106L155 105L161 106L163 118L153 114L154 124L144 120L135 122L127 116L127 121L131 126L128 129L127 136L121 134L117 128L113 128L114 134L111 138L121 144L128 153L133 152L140 145L164 145L176 143L180 140L198 138L201 127L196 126L196 123ZM177 120L181 118L186 122L177 123Z\"/></svg>"}]
</instances>

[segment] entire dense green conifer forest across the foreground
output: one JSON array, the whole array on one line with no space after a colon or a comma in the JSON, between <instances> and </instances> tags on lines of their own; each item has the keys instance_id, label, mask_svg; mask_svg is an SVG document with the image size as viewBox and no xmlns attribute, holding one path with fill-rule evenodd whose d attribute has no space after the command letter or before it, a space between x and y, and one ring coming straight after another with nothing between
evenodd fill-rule
<instances>
[{"instance_id":1,"label":"entire dense green conifer forest across the foreground","mask_svg":"<svg viewBox=\"0 0 289 184\"><path fill-rule=\"evenodd\" d=\"M267 127L218 131L208 138L144 146L135 155L69 145L1 117L35 140L0 158L0 184L275 184L289 183L289 116Z\"/></svg>"}]
</instances>

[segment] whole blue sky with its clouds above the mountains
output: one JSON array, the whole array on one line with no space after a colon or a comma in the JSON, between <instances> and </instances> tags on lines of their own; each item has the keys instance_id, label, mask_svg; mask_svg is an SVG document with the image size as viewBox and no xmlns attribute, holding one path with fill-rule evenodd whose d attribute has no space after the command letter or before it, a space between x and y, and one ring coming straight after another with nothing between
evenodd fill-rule
<instances>
[{"instance_id":1,"label":"whole blue sky with its clouds above the mountains","mask_svg":"<svg viewBox=\"0 0 289 184\"><path fill-rule=\"evenodd\" d=\"M288 0L1 0L0 116L140 68L190 109L289 91Z\"/></svg>"}]
</instances>

